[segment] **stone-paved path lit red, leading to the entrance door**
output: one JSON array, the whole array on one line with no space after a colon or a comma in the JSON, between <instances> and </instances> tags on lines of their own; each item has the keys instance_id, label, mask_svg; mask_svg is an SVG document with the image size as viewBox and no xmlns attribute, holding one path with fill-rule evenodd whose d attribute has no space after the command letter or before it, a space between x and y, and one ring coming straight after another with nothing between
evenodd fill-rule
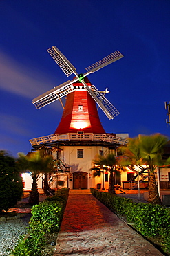
<instances>
[{"instance_id":1,"label":"stone-paved path lit red, leading to the entrance door","mask_svg":"<svg viewBox=\"0 0 170 256\"><path fill-rule=\"evenodd\" d=\"M54 256L162 255L92 194L82 191L70 191Z\"/></svg>"}]
</instances>

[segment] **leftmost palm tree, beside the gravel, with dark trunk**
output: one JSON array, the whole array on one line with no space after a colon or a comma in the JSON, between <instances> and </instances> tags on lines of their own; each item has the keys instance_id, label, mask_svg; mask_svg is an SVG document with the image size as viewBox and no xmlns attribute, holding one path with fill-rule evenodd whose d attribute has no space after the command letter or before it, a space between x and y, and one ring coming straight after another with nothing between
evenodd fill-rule
<instances>
[{"instance_id":1,"label":"leftmost palm tree, beside the gravel, with dark trunk","mask_svg":"<svg viewBox=\"0 0 170 256\"><path fill-rule=\"evenodd\" d=\"M19 153L17 163L21 170L29 170L31 173L32 190L30 192L29 204L36 205L39 203L37 181L41 173L51 170L52 156L43 157L39 151L28 153L26 156L23 153Z\"/></svg>"}]
</instances>

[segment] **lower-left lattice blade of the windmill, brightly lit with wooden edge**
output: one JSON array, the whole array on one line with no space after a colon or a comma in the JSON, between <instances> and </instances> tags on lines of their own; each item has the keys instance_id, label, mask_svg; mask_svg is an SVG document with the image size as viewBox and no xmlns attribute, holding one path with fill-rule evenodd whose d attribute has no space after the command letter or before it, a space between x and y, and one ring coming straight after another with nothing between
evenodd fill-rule
<instances>
[{"instance_id":1,"label":"lower-left lattice blade of the windmill, brightly lit with wooden edge","mask_svg":"<svg viewBox=\"0 0 170 256\"><path fill-rule=\"evenodd\" d=\"M74 80L78 79L76 78ZM55 100L59 100L68 93L72 93L72 91L75 91L74 86L72 85L72 82L74 80L69 80L63 84L60 84L57 87L54 87L52 90L43 93L39 97L34 98L34 100L32 100L32 103L35 105L36 109L41 109L41 107L44 107L47 104L54 102Z\"/></svg>"}]
</instances>

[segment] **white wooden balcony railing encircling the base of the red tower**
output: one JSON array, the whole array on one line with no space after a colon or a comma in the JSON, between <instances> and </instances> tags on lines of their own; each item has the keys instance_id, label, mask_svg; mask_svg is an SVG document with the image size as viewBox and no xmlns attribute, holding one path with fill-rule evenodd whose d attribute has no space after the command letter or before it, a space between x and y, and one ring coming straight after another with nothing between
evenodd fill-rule
<instances>
[{"instance_id":1,"label":"white wooden balcony railing encircling the base of the red tower","mask_svg":"<svg viewBox=\"0 0 170 256\"><path fill-rule=\"evenodd\" d=\"M120 145L127 144L127 138L116 137L111 134L51 134L29 140L32 146L54 143L57 141L104 141Z\"/></svg>"}]
</instances>

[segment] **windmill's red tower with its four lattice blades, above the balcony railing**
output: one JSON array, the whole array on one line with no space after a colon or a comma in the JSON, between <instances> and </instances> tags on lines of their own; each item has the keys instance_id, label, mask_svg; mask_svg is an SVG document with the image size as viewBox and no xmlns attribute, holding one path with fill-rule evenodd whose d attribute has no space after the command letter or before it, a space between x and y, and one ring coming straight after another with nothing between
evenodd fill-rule
<instances>
[{"instance_id":1,"label":"windmill's red tower with its four lattice blades, above the balcony railing","mask_svg":"<svg viewBox=\"0 0 170 256\"><path fill-rule=\"evenodd\" d=\"M122 58L123 55L119 51L115 51L95 64L85 68L87 70L86 73L78 74L76 68L74 68L56 46L52 46L47 52L50 53L56 64L59 65L67 77L72 74L74 74L75 77L43 93L39 97L34 98L32 103L35 105L36 109L45 107L47 104L55 100L61 100L61 98L67 96L61 122L55 131L56 134L75 132L80 129L85 132L105 133L98 117L96 104L98 104L98 107L103 110L109 119L114 119L118 116L119 112L111 102L105 98L105 93L108 93L107 89L103 92L104 94L98 91L98 89L89 82L87 75L98 71L100 68L112 62L116 62L116 60Z\"/></svg>"}]
</instances>

